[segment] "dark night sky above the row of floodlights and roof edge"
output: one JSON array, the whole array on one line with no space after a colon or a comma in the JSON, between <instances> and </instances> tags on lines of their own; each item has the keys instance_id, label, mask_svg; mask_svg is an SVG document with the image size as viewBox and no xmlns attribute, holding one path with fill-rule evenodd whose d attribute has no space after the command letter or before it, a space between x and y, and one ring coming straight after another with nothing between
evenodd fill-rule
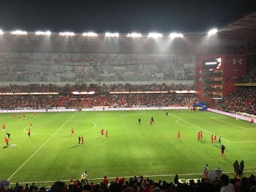
<instances>
[{"instance_id":1,"label":"dark night sky above the row of floodlights and roof edge","mask_svg":"<svg viewBox=\"0 0 256 192\"><path fill-rule=\"evenodd\" d=\"M181 32L199 34L221 28L255 11L255 1L39 1L6 0L0 4L3 31L58 33Z\"/></svg>"}]
</instances>

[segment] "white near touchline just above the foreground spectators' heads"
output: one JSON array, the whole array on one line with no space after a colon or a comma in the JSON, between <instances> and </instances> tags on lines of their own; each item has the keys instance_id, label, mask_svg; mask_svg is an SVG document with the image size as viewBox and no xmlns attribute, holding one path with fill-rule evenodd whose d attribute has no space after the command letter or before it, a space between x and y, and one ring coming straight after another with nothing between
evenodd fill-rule
<instances>
[{"instance_id":1,"label":"white near touchline just above the foreground spectators' heads","mask_svg":"<svg viewBox=\"0 0 256 192\"><path fill-rule=\"evenodd\" d=\"M243 173L254 173L256 172L256 170L254 171L243 171ZM234 172L223 172L223 174L234 174ZM147 178L154 178L154 177L170 177L170 176L175 176L176 174L166 174L166 175L153 175L153 176L144 176ZM178 174L178 176L202 176L203 178L203 173L201 174ZM133 178L134 176L119 176L119 178ZM116 177L107 177L108 179L115 179ZM181 178L183 179L183 178ZM191 178L192 179L192 178ZM103 180L102 178L88 178L89 181L101 181ZM63 182L69 182L70 179L65 179L65 180L61 180ZM56 181L26 181L26 182L18 182L20 184L25 184L25 183L54 183ZM10 184L15 184L15 183L10 183Z\"/></svg>"}]
</instances>

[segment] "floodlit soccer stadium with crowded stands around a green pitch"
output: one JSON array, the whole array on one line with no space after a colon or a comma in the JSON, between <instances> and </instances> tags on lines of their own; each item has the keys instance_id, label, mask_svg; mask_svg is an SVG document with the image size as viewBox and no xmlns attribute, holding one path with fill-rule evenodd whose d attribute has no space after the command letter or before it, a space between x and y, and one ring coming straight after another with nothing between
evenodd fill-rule
<instances>
[{"instance_id":1,"label":"floodlit soccer stadium with crowded stands around a green pitch","mask_svg":"<svg viewBox=\"0 0 256 192\"><path fill-rule=\"evenodd\" d=\"M203 34L0 30L0 189L255 191L255 63L256 12Z\"/></svg>"}]
</instances>

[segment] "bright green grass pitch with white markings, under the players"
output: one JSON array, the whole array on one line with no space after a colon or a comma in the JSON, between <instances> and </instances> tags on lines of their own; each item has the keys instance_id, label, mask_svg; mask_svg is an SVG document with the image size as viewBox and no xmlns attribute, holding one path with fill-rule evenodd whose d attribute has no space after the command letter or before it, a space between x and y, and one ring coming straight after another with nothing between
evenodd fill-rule
<instances>
[{"instance_id":1,"label":"bright green grass pitch with white markings, under the players","mask_svg":"<svg viewBox=\"0 0 256 192\"><path fill-rule=\"evenodd\" d=\"M170 182L174 174L202 178L206 164L210 170L220 167L234 176L235 159L245 161L245 175L256 171L256 126L213 112L45 112L36 118L27 113L21 121L17 115L13 119L13 114L0 114L0 123L6 124L6 131L0 131L0 178L11 183L34 181L48 186L53 181L80 178L82 171L94 182L104 176L140 175ZM151 117L154 124L149 123ZM100 129L108 131L107 139L101 137ZM197 139L198 131L203 131L202 141ZM15 148L3 148L6 132ZM211 134L222 137L225 158L218 144L210 144ZM85 144L78 144L79 135L85 137Z\"/></svg>"}]
</instances>

